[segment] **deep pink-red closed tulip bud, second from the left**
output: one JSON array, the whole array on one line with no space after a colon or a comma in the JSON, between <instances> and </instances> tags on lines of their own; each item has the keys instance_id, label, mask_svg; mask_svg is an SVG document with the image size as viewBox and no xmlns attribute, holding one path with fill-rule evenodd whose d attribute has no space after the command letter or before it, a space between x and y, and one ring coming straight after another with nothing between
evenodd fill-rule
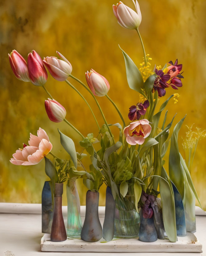
<instances>
[{"instance_id":1,"label":"deep pink-red closed tulip bud, second from the left","mask_svg":"<svg viewBox=\"0 0 206 256\"><path fill-rule=\"evenodd\" d=\"M39 54L32 50L28 55L29 78L32 84L43 86L47 82L48 74Z\"/></svg>"}]
</instances>

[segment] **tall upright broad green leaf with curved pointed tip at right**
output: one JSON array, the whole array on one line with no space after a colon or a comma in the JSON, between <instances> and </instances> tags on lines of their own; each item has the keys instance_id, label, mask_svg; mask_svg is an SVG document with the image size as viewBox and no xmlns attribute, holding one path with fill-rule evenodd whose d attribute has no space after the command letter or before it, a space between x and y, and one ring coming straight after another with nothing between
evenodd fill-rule
<instances>
[{"instance_id":1,"label":"tall upright broad green leaf with curved pointed tip at right","mask_svg":"<svg viewBox=\"0 0 206 256\"><path fill-rule=\"evenodd\" d=\"M170 179L177 187L177 190L181 194L182 199L184 198L185 186L184 186L184 170L180 163L180 154L178 147L178 133L182 126L185 117L182 118L174 127L173 134L171 136L170 144L170 155L169 155L169 174Z\"/></svg>"}]
</instances>

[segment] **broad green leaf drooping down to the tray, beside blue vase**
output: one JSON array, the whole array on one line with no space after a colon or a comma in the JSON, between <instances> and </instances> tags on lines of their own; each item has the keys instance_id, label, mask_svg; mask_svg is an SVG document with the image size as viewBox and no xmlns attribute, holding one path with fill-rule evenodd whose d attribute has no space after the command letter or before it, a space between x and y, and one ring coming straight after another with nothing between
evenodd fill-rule
<instances>
[{"instance_id":1,"label":"broad green leaf drooping down to the tray, beside blue vase","mask_svg":"<svg viewBox=\"0 0 206 256\"><path fill-rule=\"evenodd\" d=\"M177 242L173 191L170 188L169 182L162 177L159 179L159 189L162 200L162 217L166 234L171 242Z\"/></svg>"}]
</instances>

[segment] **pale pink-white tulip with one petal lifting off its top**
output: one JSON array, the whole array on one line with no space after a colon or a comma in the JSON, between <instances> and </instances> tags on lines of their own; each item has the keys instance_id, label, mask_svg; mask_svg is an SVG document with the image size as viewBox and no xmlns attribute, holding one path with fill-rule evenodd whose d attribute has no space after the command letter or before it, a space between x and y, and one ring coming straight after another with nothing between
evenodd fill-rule
<instances>
[{"instance_id":1,"label":"pale pink-white tulip with one petal lifting off its top","mask_svg":"<svg viewBox=\"0 0 206 256\"><path fill-rule=\"evenodd\" d=\"M46 57L44 58L43 62L53 78L55 78L58 81L65 81L71 74L72 66L70 62L58 51L57 54L63 60L60 60L56 57Z\"/></svg>"}]
</instances>

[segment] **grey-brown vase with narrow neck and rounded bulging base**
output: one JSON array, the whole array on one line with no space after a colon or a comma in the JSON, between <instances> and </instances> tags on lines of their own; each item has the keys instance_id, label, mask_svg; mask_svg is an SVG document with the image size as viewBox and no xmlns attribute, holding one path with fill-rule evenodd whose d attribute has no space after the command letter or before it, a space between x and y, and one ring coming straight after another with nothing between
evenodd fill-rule
<instances>
[{"instance_id":1,"label":"grey-brown vase with narrow neck and rounded bulging base","mask_svg":"<svg viewBox=\"0 0 206 256\"><path fill-rule=\"evenodd\" d=\"M86 215L81 238L87 242L97 242L102 238L102 227L98 215L99 193L88 190L86 193Z\"/></svg>"}]
</instances>

